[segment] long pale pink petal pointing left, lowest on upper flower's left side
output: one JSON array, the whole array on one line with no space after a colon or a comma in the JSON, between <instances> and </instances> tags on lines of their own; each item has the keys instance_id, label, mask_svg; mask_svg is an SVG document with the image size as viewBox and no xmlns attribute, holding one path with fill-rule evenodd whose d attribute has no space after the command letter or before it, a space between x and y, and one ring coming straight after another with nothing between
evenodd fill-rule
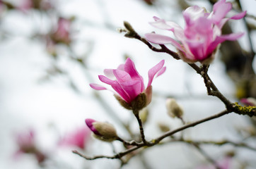
<instances>
[{"instance_id":1,"label":"long pale pink petal pointing left, lowest on upper flower's left side","mask_svg":"<svg viewBox=\"0 0 256 169\"><path fill-rule=\"evenodd\" d=\"M145 37L149 42L154 44L173 44L173 46L175 46L177 49L183 51L182 46L171 37L166 37L164 35L158 35L154 33L148 33L145 35Z\"/></svg>"}]
</instances>

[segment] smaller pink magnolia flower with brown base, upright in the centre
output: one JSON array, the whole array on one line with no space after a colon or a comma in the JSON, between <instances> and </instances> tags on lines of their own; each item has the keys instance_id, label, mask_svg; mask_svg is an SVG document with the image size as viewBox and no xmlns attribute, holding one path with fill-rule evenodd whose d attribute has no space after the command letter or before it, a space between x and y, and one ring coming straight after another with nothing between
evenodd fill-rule
<instances>
[{"instance_id":1,"label":"smaller pink magnolia flower with brown base, upright in the centre","mask_svg":"<svg viewBox=\"0 0 256 169\"><path fill-rule=\"evenodd\" d=\"M130 58L127 58L125 63L120 65L117 69L105 69L104 73L106 76L99 75L98 77L101 82L110 84L115 92L117 92L115 96L117 96L120 103L123 101L121 103L122 106L128 109L134 109L134 107L138 106L133 106L133 104L135 104L134 100L136 99L136 103L143 105L139 108L137 107L137 109L141 109L151 102L151 83L155 75L158 77L165 72L165 67L163 67L164 62L165 61L162 60L149 70L149 82L146 89L143 77L139 75L134 62ZM114 77L115 80L111 80L111 77ZM96 90L107 89L99 84L90 84L90 86ZM138 98L139 94L141 94L141 97Z\"/></svg>"}]
</instances>

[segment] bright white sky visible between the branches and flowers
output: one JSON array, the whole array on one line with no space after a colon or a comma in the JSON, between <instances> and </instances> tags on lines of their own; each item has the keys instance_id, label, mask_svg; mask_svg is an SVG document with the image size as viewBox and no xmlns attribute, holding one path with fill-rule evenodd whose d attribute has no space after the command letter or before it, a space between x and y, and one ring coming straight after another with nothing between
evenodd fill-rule
<instances>
[{"instance_id":1,"label":"bright white sky visible between the branches and flowers","mask_svg":"<svg viewBox=\"0 0 256 169\"><path fill-rule=\"evenodd\" d=\"M94 82L99 82L98 75L103 73L104 68L117 68L124 63L124 54L128 54L135 62L136 68L144 76L147 83L147 71L162 59L165 59L167 71L161 77L153 81L155 94L171 94L174 96L192 96L178 99L185 110L185 120L192 121L204 118L207 115L219 113L224 106L211 96L206 96L203 80L199 75L191 71L184 62L176 61L167 54L156 54L146 45L136 39L128 39L118 32L107 30L103 27L105 18L115 27L123 27L124 20L129 21L140 35L147 32L158 31L149 25L152 16L174 20L182 24L181 13L178 13L177 4L168 2L168 6L162 6L160 1L157 7L146 6L139 0L86 0L86 1L59 1L58 10L64 16L76 16L73 29L74 37L78 39L75 46L78 54L88 50L87 42L93 42L93 51L88 58L88 67L94 77ZM104 4L104 6L99 6ZM195 1L194 4L202 5L203 1ZM243 1L243 8L250 14L255 13L255 0ZM207 7L207 6L206 6ZM104 11L102 10L104 9ZM42 19L42 21L40 21ZM96 26L88 25L88 21ZM240 22L238 22L240 23ZM99 26L97 26L99 25ZM241 23L240 23L241 25ZM83 161L82 158L71 154L70 150L54 148L58 136L67 131L83 126L86 118L108 121L117 126L117 132L125 137L125 133L118 123L105 113L97 101L93 99L93 89L85 78L83 70L66 58L66 51L60 48L63 58L58 63L69 72L70 77L81 94L74 92L69 87L68 81L62 75L52 77L50 81L40 82L46 75L45 70L53 63L52 58L47 56L45 46L38 40L29 39L33 30L47 30L47 20L40 18L38 13L10 12L5 15L1 27L8 30L12 35L0 42L0 168L38 168L33 158L24 156L21 161L12 161L11 156L16 151L13 133L35 128L37 143L45 151L50 151L54 161L65 161L70 168L81 168L81 165L91 168L117 168L117 161L97 160ZM241 28L243 31L243 27ZM239 30L238 30L239 31ZM165 32L166 33L166 32ZM168 32L167 32L168 33ZM253 41L255 42L255 35ZM242 42L247 42L243 37ZM256 44L256 42L254 43ZM256 64L254 63L254 68ZM232 95L235 87L228 76L224 73L224 67L216 59L211 65L209 75L223 94L235 101ZM118 112L122 120L132 119L131 112L121 108L111 92L98 92L107 100L107 103ZM194 99L193 95L202 96ZM168 118L165 113L165 99L161 96L153 97L149 122L145 126L146 138L151 139L161 134L157 123L167 123L170 127L180 126L179 120ZM135 118L134 130L136 128ZM199 125L185 131L187 138L196 139L234 139L238 135L233 127L246 126L247 118L239 115L226 115L225 117ZM116 144L119 146L119 144ZM98 149L100 147L100 149ZM212 148L212 147L210 147ZM221 156L221 149L231 149L231 146L223 146L211 150L213 158ZM88 145L89 156L95 154L111 154L110 145L95 141ZM252 151L240 151L249 156L245 160L252 160L256 156ZM156 146L147 150L144 154L151 168L188 168L203 161L197 151L190 149L184 144L175 146ZM240 155L242 156L242 155ZM63 163L62 163L63 165ZM66 165L67 166L67 165ZM166 167L162 167L166 166ZM139 158L133 158L124 168L141 168Z\"/></svg>"}]
</instances>

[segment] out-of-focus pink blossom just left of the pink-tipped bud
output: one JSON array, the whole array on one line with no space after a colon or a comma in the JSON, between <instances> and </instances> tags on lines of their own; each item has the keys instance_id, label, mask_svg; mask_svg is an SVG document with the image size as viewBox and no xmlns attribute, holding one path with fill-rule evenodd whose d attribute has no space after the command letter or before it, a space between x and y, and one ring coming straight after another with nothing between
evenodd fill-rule
<instances>
[{"instance_id":1,"label":"out-of-focus pink blossom just left of the pink-tipped bud","mask_svg":"<svg viewBox=\"0 0 256 169\"><path fill-rule=\"evenodd\" d=\"M81 149L86 148L91 131L88 127L81 127L73 132L66 134L64 138L59 141L60 146L77 146Z\"/></svg>"}]
</instances>

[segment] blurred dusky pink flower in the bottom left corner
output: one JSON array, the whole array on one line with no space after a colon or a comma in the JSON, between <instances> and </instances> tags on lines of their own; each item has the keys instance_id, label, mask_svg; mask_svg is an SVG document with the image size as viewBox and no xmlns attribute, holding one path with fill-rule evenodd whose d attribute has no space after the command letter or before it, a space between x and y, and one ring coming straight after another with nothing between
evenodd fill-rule
<instances>
[{"instance_id":1,"label":"blurred dusky pink flower in the bottom left corner","mask_svg":"<svg viewBox=\"0 0 256 169\"><path fill-rule=\"evenodd\" d=\"M33 130L16 134L16 144L18 144L18 151L14 154L14 158L18 158L22 154L33 154L38 163L45 161L45 154L39 151L35 144L35 132Z\"/></svg>"}]
</instances>

